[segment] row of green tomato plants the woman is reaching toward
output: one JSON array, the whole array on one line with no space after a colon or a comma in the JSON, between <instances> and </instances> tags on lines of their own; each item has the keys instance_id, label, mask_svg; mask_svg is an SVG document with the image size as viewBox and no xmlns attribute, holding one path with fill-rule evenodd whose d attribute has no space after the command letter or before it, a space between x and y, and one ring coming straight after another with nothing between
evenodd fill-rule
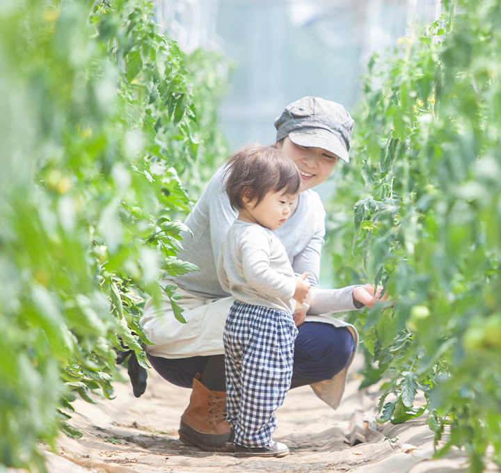
<instances>
[{"instance_id":1,"label":"row of green tomato plants the woman is reaching toward","mask_svg":"<svg viewBox=\"0 0 501 473\"><path fill-rule=\"evenodd\" d=\"M381 422L428 408L436 440L450 424L442 452L464 447L477 472L489 445L501 464L501 2L443 4L369 64L346 173L366 190L341 271L363 266L397 300L356 322L365 385L385 380Z\"/></svg>"}]
</instances>

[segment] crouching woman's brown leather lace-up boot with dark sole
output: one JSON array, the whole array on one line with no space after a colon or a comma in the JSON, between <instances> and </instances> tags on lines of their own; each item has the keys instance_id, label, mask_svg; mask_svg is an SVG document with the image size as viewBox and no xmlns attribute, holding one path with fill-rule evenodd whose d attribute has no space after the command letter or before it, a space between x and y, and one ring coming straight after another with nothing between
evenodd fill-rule
<instances>
[{"instance_id":1,"label":"crouching woman's brown leather lace-up boot with dark sole","mask_svg":"<svg viewBox=\"0 0 501 473\"><path fill-rule=\"evenodd\" d=\"M186 445L205 451L230 451L226 441L230 424L226 422L226 393L211 391L193 378L188 408L181 416L180 440Z\"/></svg>"}]
</instances>

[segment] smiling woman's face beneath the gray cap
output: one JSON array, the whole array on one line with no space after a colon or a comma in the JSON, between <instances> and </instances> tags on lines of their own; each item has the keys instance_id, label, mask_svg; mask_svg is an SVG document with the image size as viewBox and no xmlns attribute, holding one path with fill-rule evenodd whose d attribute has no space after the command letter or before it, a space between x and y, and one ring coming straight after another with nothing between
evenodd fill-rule
<instances>
[{"instance_id":1,"label":"smiling woman's face beneath the gray cap","mask_svg":"<svg viewBox=\"0 0 501 473\"><path fill-rule=\"evenodd\" d=\"M331 152L315 147L302 147L290 141L286 136L277 146L294 161L301 173L300 192L318 186L333 172L337 164L337 156Z\"/></svg>"}]
</instances>

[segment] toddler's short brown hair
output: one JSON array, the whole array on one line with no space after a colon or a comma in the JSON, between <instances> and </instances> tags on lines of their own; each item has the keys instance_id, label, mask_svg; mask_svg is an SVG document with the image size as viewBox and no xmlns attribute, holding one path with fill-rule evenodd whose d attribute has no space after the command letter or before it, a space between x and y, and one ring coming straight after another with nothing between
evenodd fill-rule
<instances>
[{"instance_id":1,"label":"toddler's short brown hair","mask_svg":"<svg viewBox=\"0 0 501 473\"><path fill-rule=\"evenodd\" d=\"M299 169L277 147L250 145L230 157L224 176L225 191L233 209L244 208L244 197L259 204L269 192L296 194L301 185Z\"/></svg>"}]
</instances>

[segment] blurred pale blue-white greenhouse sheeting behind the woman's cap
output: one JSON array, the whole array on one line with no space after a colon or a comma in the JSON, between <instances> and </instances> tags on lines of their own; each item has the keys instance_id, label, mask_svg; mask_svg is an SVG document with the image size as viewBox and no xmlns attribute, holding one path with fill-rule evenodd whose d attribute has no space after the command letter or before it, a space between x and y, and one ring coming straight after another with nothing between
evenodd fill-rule
<instances>
[{"instance_id":1,"label":"blurred pale blue-white greenhouse sheeting behind the woman's cap","mask_svg":"<svg viewBox=\"0 0 501 473\"><path fill-rule=\"evenodd\" d=\"M232 62L220 119L233 147L271 143L289 102L317 95L350 109L369 57L408 25L440 15L440 0L157 0L157 19L185 51Z\"/></svg>"}]
</instances>

